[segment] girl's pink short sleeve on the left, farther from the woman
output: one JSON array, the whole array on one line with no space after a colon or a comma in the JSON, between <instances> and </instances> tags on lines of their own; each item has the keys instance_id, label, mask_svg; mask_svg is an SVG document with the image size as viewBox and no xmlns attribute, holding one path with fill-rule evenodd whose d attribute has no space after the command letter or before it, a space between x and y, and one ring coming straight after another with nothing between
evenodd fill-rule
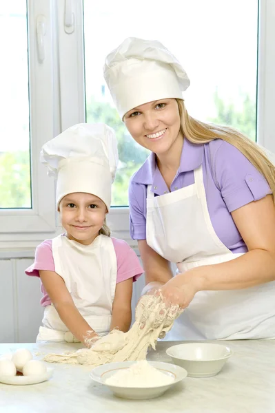
<instances>
[{"instance_id":1,"label":"girl's pink short sleeve on the left, farther from the woman","mask_svg":"<svg viewBox=\"0 0 275 413\"><path fill-rule=\"evenodd\" d=\"M39 277L39 270L55 271L52 257L52 240L45 240L35 250L34 263L29 266L26 275Z\"/></svg>"}]
</instances>

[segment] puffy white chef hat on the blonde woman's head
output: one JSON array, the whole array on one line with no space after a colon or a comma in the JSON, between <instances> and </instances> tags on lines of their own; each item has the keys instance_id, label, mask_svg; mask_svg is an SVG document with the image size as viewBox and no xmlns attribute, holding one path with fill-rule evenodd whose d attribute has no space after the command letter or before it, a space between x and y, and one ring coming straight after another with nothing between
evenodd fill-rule
<instances>
[{"instance_id":1,"label":"puffy white chef hat on the blonde woman's head","mask_svg":"<svg viewBox=\"0 0 275 413\"><path fill-rule=\"evenodd\" d=\"M164 98L183 98L190 80L159 41L128 37L110 52L104 78L121 118L130 109Z\"/></svg>"}]
</instances>

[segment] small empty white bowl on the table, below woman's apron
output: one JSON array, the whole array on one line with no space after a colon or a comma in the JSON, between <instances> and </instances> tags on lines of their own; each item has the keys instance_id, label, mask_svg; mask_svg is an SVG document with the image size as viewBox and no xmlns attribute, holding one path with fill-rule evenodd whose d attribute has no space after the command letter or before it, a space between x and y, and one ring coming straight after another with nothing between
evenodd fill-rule
<instances>
[{"instance_id":1,"label":"small empty white bowl on the table, below woman's apron","mask_svg":"<svg viewBox=\"0 0 275 413\"><path fill-rule=\"evenodd\" d=\"M183 343L167 348L175 364L187 370L189 377L212 377L218 374L233 352L216 343Z\"/></svg>"}]
</instances>

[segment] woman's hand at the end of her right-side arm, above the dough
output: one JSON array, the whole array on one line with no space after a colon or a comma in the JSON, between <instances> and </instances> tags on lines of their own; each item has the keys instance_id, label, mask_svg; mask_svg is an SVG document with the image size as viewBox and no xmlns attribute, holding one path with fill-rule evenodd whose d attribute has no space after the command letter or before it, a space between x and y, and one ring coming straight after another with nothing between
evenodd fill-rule
<instances>
[{"instance_id":1,"label":"woman's hand at the end of her right-side arm, above the dough","mask_svg":"<svg viewBox=\"0 0 275 413\"><path fill-rule=\"evenodd\" d=\"M159 291L167 305L178 304L186 308L199 290L196 277L192 277L192 271L188 271L170 279Z\"/></svg>"}]
</instances>

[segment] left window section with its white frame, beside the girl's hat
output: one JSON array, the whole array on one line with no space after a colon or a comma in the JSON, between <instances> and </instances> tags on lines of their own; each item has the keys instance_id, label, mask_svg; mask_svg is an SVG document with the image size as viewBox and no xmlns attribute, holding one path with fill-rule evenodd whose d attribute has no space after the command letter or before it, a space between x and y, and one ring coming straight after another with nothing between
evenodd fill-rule
<instances>
[{"instance_id":1,"label":"left window section with its white frame, beside the girl's hat","mask_svg":"<svg viewBox=\"0 0 275 413\"><path fill-rule=\"evenodd\" d=\"M0 246L56 229L54 182L39 164L54 135L51 3L0 1ZM28 233L28 236L26 236ZM13 244L14 245L14 244Z\"/></svg>"}]
</instances>

